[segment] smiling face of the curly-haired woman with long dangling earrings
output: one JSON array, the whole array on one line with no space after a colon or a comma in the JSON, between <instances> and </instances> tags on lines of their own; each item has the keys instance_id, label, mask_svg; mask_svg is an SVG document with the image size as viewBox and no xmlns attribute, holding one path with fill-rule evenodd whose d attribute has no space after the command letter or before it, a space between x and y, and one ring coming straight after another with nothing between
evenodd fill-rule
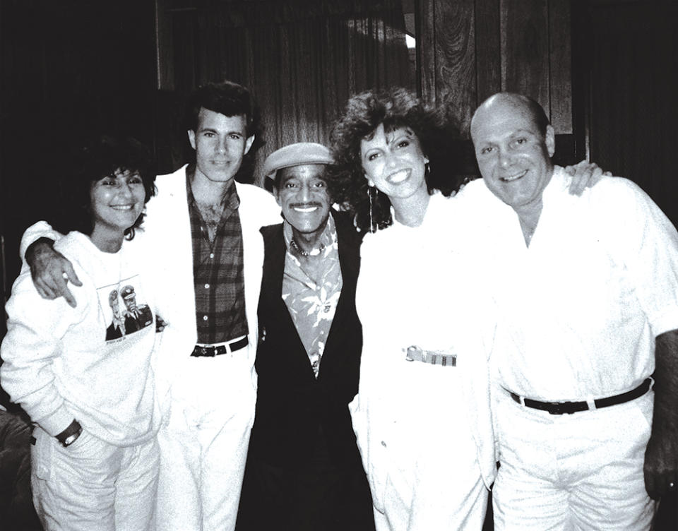
<instances>
[{"instance_id":1,"label":"smiling face of the curly-haired woman with long dangling earrings","mask_svg":"<svg viewBox=\"0 0 678 531\"><path fill-rule=\"evenodd\" d=\"M360 141L360 160L369 186L391 201L428 194L424 177L429 160L412 129L398 127L387 133L379 124L372 138Z\"/></svg>"}]
</instances>

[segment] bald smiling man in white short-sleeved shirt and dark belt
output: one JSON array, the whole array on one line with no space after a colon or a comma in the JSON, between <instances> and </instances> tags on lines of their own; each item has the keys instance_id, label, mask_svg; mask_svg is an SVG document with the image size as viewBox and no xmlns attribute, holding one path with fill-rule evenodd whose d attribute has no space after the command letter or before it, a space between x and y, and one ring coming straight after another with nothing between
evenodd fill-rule
<instances>
[{"instance_id":1,"label":"bald smiling man in white short-sleeved shirt and dark belt","mask_svg":"<svg viewBox=\"0 0 678 531\"><path fill-rule=\"evenodd\" d=\"M569 195L525 96L490 97L471 135L495 243L496 530L649 529L678 482L678 233L626 179Z\"/></svg>"}]
</instances>

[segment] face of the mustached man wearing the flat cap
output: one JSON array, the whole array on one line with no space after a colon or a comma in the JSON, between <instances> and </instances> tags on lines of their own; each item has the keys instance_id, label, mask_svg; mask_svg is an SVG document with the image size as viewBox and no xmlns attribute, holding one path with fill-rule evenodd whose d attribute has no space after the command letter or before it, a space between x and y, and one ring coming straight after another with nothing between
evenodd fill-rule
<instances>
[{"instance_id":1,"label":"face of the mustached man wearing the flat cap","mask_svg":"<svg viewBox=\"0 0 678 531\"><path fill-rule=\"evenodd\" d=\"M307 237L319 237L330 215L332 201L325 181L325 165L304 164L279 169L275 198L292 229Z\"/></svg>"}]
</instances>

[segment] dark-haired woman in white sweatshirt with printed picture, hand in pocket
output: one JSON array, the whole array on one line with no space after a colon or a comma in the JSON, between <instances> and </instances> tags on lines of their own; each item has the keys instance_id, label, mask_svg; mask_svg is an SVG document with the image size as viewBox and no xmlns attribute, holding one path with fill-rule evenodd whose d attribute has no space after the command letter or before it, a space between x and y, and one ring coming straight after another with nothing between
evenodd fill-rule
<instances>
[{"instance_id":1,"label":"dark-haired woman in white sweatshirt with printed picture, hand in pocket","mask_svg":"<svg viewBox=\"0 0 678 531\"><path fill-rule=\"evenodd\" d=\"M54 246L82 282L76 305L40 297L24 268L6 305L0 381L36 424L31 481L45 530L146 530L158 467L156 319L133 237L155 174L132 139L101 137L76 159L61 183L60 228L71 232Z\"/></svg>"}]
</instances>

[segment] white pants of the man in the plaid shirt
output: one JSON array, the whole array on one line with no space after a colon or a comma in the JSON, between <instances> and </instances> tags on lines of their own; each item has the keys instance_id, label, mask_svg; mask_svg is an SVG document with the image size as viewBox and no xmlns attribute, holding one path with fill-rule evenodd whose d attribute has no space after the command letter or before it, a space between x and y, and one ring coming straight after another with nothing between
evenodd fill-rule
<instances>
[{"instance_id":1,"label":"white pants of the man in the plaid shirt","mask_svg":"<svg viewBox=\"0 0 678 531\"><path fill-rule=\"evenodd\" d=\"M234 530L256 402L247 349L186 357L170 400L157 530Z\"/></svg>"}]
</instances>

